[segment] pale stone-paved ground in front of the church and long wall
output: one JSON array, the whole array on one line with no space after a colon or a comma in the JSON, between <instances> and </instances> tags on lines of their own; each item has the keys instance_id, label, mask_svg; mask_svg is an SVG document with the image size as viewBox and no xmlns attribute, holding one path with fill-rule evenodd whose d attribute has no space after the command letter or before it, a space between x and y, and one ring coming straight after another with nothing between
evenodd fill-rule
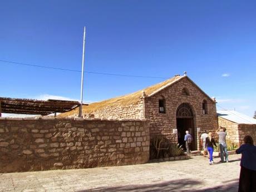
<instances>
[{"instance_id":1,"label":"pale stone-paved ground in front of the church and long wall","mask_svg":"<svg viewBox=\"0 0 256 192\"><path fill-rule=\"evenodd\" d=\"M194 156L143 165L0 174L0 191L237 191L240 155L229 157L230 163L214 165Z\"/></svg>"}]
</instances>

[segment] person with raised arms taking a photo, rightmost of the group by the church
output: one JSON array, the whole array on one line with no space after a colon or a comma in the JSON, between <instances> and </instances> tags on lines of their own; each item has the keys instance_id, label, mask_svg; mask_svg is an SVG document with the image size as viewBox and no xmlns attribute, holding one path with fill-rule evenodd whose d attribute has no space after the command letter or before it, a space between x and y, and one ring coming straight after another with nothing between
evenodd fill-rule
<instances>
[{"instance_id":1,"label":"person with raised arms taking a photo, rightmost of the group by the church","mask_svg":"<svg viewBox=\"0 0 256 192\"><path fill-rule=\"evenodd\" d=\"M224 155L225 155L225 161L228 163L228 149L227 149L227 142L226 142L226 128L225 127L219 127L218 130L216 130L216 134L219 135L219 146L220 146L220 161L224 162Z\"/></svg>"}]
</instances>

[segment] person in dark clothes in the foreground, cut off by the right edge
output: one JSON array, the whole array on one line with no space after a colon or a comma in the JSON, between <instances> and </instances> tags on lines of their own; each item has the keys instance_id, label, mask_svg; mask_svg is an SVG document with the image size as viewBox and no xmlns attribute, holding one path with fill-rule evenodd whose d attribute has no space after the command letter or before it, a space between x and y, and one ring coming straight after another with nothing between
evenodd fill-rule
<instances>
[{"instance_id":1,"label":"person in dark clothes in the foreground, cut off by the right edge","mask_svg":"<svg viewBox=\"0 0 256 192\"><path fill-rule=\"evenodd\" d=\"M256 146L249 135L244 137L244 144L235 151L242 154L238 192L254 192L256 190Z\"/></svg>"}]
</instances>

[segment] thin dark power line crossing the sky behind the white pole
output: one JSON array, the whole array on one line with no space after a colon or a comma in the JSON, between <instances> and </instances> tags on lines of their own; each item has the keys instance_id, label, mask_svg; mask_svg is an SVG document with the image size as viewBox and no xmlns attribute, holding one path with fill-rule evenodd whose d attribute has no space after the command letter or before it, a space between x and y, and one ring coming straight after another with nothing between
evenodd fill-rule
<instances>
[{"instance_id":1,"label":"thin dark power line crossing the sky behind the white pole","mask_svg":"<svg viewBox=\"0 0 256 192\"><path fill-rule=\"evenodd\" d=\"M21 63L21 62L14 62L14 61L6 61L6 60L0 60L0 62L12 63L12 64L16 64L16 65L23 65L23 66L30 66L30 67L48 68L48 69L51 69L51 70L81 72L80 70L72 70L72 69L68 69L68 68L49 67L49 66L42 66L42 65L35 65L35 64ZM84 73L92 73L92 74L97 74L97 75L109 75L109 76L123 76L123 77L140 77L140 78L162 78L162 79L170 78L170 77L125 75L125 74L117 74L117 73L102 73L102 72L92 72L92 71L84 71Z\"/></svg>"}]
</instances>

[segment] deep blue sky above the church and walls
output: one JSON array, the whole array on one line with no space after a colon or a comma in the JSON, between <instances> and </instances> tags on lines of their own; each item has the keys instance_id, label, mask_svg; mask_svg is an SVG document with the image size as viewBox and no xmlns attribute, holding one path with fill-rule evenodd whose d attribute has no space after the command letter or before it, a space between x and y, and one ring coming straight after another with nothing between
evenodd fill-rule
<instances>
[{"instance_id":1,"label":"deep blue sky above the church and walls","mask_svg":"<svg viewBox=\"0 0 256 192\"><path fill-rule=\"evenodd\" d=\"M256 110L255 1L1 1L0 60L135 76L188 76L218 107ZM80 99L81 74L1 62L0 96ZM85 73L84 101L164 78Z\"/></svg>"}]
</instances>

